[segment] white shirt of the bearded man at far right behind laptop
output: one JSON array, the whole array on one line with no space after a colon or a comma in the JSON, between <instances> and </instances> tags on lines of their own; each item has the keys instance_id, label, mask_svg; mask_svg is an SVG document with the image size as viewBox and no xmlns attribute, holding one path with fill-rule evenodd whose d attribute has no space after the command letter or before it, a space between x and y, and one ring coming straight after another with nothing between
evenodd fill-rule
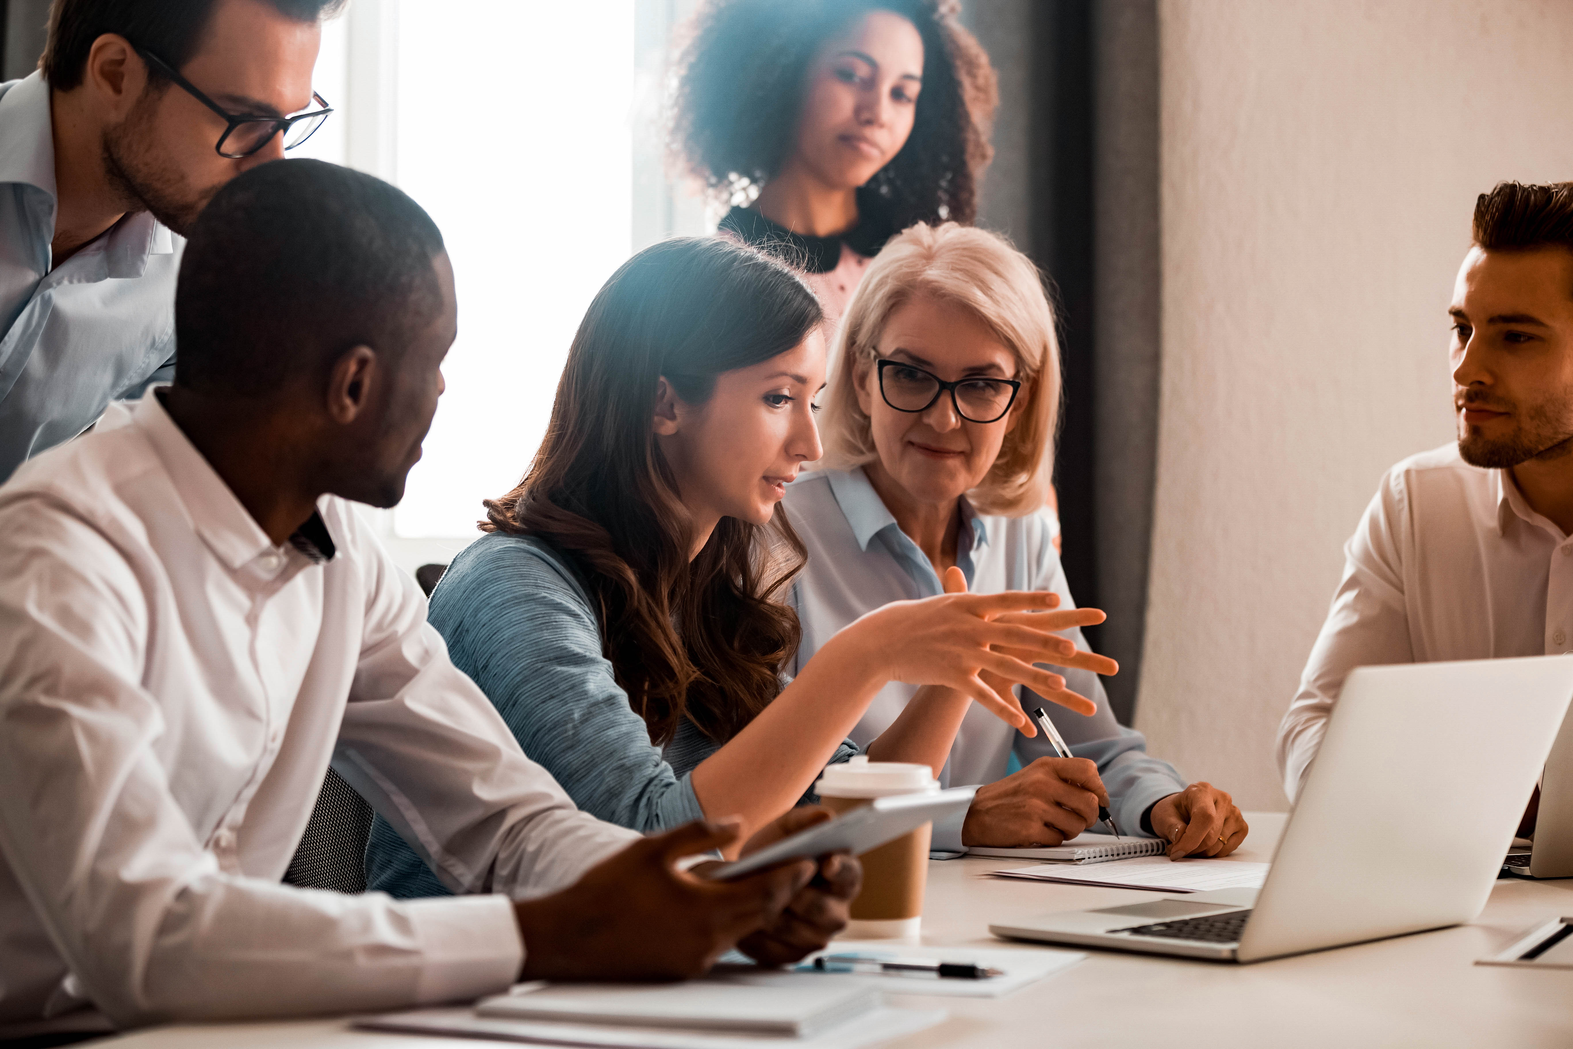
<instances>
[{"instance_id":1,"label":"white shirt of the bearded man at far right behind laptop","mask_svg":"<svg viewBox=\"0 0 1573 1049\"><path fill-rule=\"evenodd\" d=\"M1291 801L1353 668L1573 651L1573 541L1531 510L1512 473L1469 466L1458 445L1387 470L1343 557L1279 727Z\"/></svg>"}]
</instances>

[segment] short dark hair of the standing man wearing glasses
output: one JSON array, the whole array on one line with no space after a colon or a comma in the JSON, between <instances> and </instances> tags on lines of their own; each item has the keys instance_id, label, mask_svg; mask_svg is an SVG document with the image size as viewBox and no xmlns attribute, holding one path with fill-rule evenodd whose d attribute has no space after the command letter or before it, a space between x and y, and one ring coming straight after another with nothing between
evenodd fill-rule
<instances>
[{"instance_id":1,"label":"short dark hair of the standing man wearing glasses","mask_svg":"<svg viewBox=\"0 0 1573 1049\"><path fill-rule=\"evenodd\" d=\"M197 53L203 30L219 0L53 0L49 5L49 41L38 68L49 86L69 91L82 83L93 41L104 33L124 36L179 69ZM346 0L267 0L299 22L333 17ZM162 74L149 69L149 79Z\"/></svg>"}]
</instances>

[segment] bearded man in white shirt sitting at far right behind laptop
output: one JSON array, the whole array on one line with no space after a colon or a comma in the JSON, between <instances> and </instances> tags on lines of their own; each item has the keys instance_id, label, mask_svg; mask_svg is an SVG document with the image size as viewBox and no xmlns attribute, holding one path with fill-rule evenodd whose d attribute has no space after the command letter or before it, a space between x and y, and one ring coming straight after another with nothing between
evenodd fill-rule
<instances>
[{"instance_id":1,"label":"bearded man in white shirt sitting at far right behind laptop","mask_svg":"<svg viewBox=\"0 0 1573 1049\"><path fill-rule=\"evenodd\" d=\"M1345 547L1279 728L1290 799L1354 667L1573 653L1573 182L1480 195L1449 315L1458 442L1392 467Z\"/></svg>"}]
</instances>

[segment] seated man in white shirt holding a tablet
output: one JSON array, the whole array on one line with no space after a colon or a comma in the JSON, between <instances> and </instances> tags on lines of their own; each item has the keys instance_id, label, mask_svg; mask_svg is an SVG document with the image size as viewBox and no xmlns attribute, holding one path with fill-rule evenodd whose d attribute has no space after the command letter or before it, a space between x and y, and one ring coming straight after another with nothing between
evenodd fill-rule
<instances>
[{"instance_id":1,"label":"seated man in white shirt holding a tablet","mask_svg":"<svg viewBox=\"0 0 1573 1049\"><path fill-rule=\"evenodd\" d=\"M247 171L193 226L176 324L173 387L0 488L0 1027L681 977L845 925L856 860L713 882L675 862L735 826L579 812L351 506L401 499L455 338L412 200L316 160ZM329 763L467 895L280 884Z\"/></svg>"}]
</instances>

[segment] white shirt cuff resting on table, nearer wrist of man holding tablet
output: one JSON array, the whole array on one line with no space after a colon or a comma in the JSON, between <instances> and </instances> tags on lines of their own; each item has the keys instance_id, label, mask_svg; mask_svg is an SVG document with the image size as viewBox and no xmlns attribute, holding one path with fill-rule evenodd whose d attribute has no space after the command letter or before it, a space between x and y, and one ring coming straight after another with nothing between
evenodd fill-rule
<instances>
[{"instance_id":1,"label":"white shirt cuff resting on table, nearer wrist of man holding tablet","mask_svg":"<svg viewBox=\"0 0 1573 1049\"><path fill-rule=\"evenodd\" d=\"M524 969L524 940L508 896L412 900L400 904L422 950L417 1005L502 994Z\"/></svg>"}]
</instances>

